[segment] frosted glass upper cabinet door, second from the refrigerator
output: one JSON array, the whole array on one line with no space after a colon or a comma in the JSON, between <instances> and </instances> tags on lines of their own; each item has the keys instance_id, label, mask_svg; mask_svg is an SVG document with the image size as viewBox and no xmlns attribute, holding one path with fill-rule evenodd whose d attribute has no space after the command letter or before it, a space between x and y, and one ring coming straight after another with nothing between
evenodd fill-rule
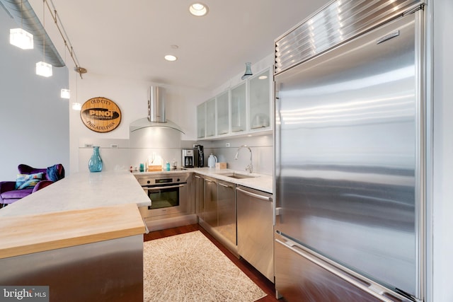
<instances>
[{"instance_id":1,"label":"frosted glass upper cabinet door, second from the refrigerator","mask_svg":"<svg viewBox=\"0 0 453 302\"><path fill-rule=\"evenodd\" d=\"M246 81L231 89L231 132L247 130L247 87Z\"/></svg>"}]
</instances>

